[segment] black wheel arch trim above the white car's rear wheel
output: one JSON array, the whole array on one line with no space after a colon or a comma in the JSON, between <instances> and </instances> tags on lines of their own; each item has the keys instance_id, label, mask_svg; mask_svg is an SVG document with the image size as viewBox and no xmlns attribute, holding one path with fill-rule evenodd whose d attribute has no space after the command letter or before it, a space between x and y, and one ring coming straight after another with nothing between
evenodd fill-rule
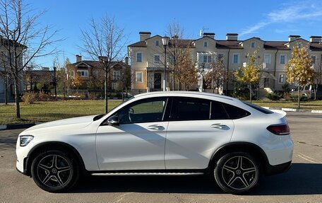
<instances>
[{"instance_id":1,"label":"black wheel arch trim above the white car's rear wheel","mask_svg":"<svg viewBox=\"0 0 322 203\"><path fill-rule=\"evenodd\" d=\"M259 161L261 170L266 175L268 173L267 166L269 166L268 157L266 156L266 153L261 149L260 146L257 146L256 144L250 143L250 142L244 142L244 141L237 141L232 143L227 143L223 146L221 146L219 149L213 153L213 156L210 158L209 166L208 168L212 170L215 165L217 164L217 161L220 157L224 156L227 153L235 152L235 151L243 151L250 153L254 158L256 158L257 161Z\"/></svg>"}]
</instances>

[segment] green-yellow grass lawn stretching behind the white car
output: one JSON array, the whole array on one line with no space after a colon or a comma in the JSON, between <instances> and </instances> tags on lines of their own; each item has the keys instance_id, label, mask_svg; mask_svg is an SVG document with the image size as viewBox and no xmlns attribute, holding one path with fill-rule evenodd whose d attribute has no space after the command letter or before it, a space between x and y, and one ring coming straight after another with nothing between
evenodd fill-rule
<instances>
[{"instance_id":1,"label":"green-yellow grass lawn stretching behind the white car","mask_svg":"<svg viewBox=\"0 0 322 203\"><path fill-rule=\"evenodd\" d=\"M121 103L121 100L109 100L109 110ZM296 102L290 101L253 101L254 104L271 108L297 108ZM302 102L301 108L322 110L322 100ZM32 105L20 103L21 120L16 120L14 105L0 105L0 124L28 122L47 122L68 117L97 115L104 113L103 100L66 100L37 102Z\"/></svg>"}]
</instances>

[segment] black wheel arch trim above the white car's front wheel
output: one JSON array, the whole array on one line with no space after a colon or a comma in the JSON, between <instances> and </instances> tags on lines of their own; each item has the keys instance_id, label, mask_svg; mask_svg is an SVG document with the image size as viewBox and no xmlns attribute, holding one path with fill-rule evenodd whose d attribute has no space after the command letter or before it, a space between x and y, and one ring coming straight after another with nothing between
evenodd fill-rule
<instances>
[{"instance_id":1,"label":"black wheel arch trim above the white car's front wheel","mask_svg":"<svg viewBox=\"0 0 322 203\"><path fill-rule=\"evenodd\" d=\"M25 175L29 175L31 177L30 169L32 160L37 156L40 151L45 151L49 149L61 149L63 151L67 151L68 153L71 153L75 158L76 161L79 163L79 167L81 168L81 173L85 173L85 164L83 161L83 158L81 157L81 154L73 147L71 144L67 144L65 142L61 141L47 141L43 142L41 144L37 144L32 148L32 150L29 151L27 158L25 158L24 164L23 164L23 170Z\"/></svg>"}]
</instances>

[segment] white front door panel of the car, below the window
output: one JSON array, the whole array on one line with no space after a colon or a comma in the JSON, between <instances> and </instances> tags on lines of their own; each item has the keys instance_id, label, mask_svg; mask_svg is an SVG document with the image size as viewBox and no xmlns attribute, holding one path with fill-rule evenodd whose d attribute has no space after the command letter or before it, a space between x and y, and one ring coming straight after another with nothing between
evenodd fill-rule
<instances>
[{"instance_id":1,"label":"white front door panel of the car, below the window","mask_svg":"<svg viewBox=\"0 0 322 203\"><path fill-rule=\"evenodd\" d=\"M165 169L168 122L103 125L97 129L100 170Z\"/></svg>"}]
</instances>

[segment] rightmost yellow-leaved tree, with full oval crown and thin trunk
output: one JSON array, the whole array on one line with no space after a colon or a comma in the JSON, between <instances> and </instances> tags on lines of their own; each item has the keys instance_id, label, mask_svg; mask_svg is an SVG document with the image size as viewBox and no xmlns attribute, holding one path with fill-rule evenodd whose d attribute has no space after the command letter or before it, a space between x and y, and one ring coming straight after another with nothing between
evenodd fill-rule
<instances>
[{"instance_id":1,"label":"rightmost yellow-leaved tree, with full oval crown and thin trunk","mask_svg":"<svg viewBox=\"0 0 322 203\"><path fill-rule=\"evenodd\" d=\"M311 69L312 59L309 56L307 47L294 47L292 57L285 65L285 71L288 83L297 83L299 86L299 95L297 98L297 107L300 108L301 88L313 82L314 70Z\"/></svg>"}]
</instances>

